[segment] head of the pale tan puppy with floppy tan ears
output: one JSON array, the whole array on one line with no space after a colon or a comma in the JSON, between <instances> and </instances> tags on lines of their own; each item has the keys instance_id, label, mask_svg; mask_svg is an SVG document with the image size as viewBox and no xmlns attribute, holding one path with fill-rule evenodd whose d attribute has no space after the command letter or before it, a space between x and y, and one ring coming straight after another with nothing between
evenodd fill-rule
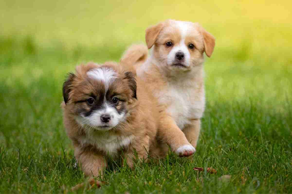
<instances>
[{"instance_id":1,"label":"head of the pale tan puppy with floppy tan ears","mask_svg":"<svg viewBox=\"0 0 292 194\"><path fill-rule=\"evenodd\" d=\"M211 56L215 38L199 24L166 20L146 29L148 49L162 67L170 70L190 70L202 65L203 53Z\"/></svg>"}]
</instances>

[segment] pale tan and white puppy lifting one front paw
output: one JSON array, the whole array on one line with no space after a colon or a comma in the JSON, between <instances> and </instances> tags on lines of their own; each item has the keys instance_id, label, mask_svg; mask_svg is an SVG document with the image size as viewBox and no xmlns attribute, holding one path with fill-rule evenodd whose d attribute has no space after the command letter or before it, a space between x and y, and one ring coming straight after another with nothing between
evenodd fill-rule
<instances>
[{"instance_id":1,"label":"pale tan and white puppy lifting one front paw","mask_svg":"<svg viewBox=\"0 0 292 194\"><path fill-rule=\"evenodd\" d=\"M149 58L147 47L134 45L129 50L136 55L126 51L121 61L147 58L133 69L161 106L158 136L178 155L189 156L197 146L205 107L204 52L211 56L215 38L197 23L176 20L149 27L145 38Z\"/></svg>"}]
</instances>

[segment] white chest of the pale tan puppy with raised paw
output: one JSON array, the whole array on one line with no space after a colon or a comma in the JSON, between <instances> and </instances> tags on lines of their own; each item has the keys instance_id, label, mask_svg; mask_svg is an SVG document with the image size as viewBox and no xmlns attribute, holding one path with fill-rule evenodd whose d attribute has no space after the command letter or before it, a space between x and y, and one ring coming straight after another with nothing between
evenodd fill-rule
<instances>
[{"instance_id":1,"label":"white chest of the pale tan puppy with raised paw","mask_svg":"<svg viewBox=\"0 0 292 194\"><path fill-rule=\"evenodd\" d=\"M159 92L159 103L165 105L178 127L183 130L192 119L203 116L205 106L204 88L170 86Z\"/></svg>"}]
</instances>

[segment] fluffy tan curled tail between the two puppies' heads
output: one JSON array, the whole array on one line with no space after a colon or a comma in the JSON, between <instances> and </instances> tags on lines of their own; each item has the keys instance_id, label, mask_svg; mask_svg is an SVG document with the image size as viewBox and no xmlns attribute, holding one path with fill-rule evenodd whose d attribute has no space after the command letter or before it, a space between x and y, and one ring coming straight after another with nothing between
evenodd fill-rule
<instances>
[{"instance_id":1,"label":"fluffy tan curled tail between the two puppies' heads","mask_svg":"<svg viewBox=\"0 0 292 194\"><path fill-rule=\"evenodd\" d=\"M148 55L148 48L146 45L131 45L123 54L121 58L121 65L128 71L136 74L136 67L143 64Z\"/></svg>"}]
</instances>

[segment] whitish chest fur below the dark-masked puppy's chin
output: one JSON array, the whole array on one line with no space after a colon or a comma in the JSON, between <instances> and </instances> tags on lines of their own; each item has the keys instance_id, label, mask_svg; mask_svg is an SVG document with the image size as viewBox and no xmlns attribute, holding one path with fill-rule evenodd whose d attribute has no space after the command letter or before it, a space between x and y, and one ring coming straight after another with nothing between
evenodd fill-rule
<instances>
[{"instance_id":1,"label":"whitish chest fur below the dark-masked puppy's chin","mask_svg":"<svg viewBox=\"0 0 292 194\"><path fill-rule=\"evenodd\" d=\"M110 156L116 156L118 150L127 147L133 139L133 135L120 136L105 131L102 133L88 133L86 136L79 138L79 142L81 145L93 145Z\"/></svg>"}]
</instances>

